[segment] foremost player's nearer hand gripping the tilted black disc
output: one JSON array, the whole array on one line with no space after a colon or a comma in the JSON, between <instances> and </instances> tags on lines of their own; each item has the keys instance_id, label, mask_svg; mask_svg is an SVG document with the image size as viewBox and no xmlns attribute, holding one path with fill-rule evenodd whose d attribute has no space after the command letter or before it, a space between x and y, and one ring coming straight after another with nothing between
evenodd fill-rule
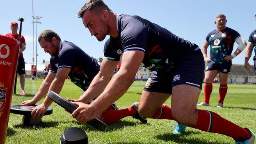
<instances>
[{"instance_id":1,"label":"foremost player's nearer hand gripping the tilted black disc","mask_svg":"<svg viewBox=\"0 0 256 144\"><path fill-rule=\"evenodd\" d=\"M80 123L85 123L94 118L96 114L94 110L91 109L90 105L87 105L82 102L71 102L78 108L72 113L72 117L75 118Z\"/></svg>"}]
</instances>

